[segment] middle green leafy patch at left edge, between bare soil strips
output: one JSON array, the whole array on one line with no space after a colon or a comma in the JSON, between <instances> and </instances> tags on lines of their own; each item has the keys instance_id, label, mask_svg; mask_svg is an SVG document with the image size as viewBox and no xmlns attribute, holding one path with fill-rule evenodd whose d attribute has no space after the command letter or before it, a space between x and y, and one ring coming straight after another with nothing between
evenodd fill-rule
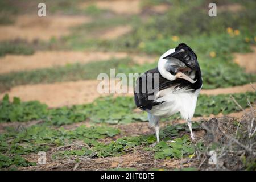
<instances>
[{"instance_id":1,"label":"middle green leafy patch at left edge, between bare soil strips","mask_svg":"<svg viewBox=\"0 0 256 182\"><path fill-rule=\"evenodd\" d=\"M119 134L118 129L112 127L77 127L75 130L54 130L45 125L31 126L17 133L9 131L1 136L1 152L11 154L29 154L40 150L47 151L51 146L61 146L73 140L100 139ZM15 138L14 138L15 136ZM10 138L6 143L5 139Z\"/></svg>"}]
</instances>

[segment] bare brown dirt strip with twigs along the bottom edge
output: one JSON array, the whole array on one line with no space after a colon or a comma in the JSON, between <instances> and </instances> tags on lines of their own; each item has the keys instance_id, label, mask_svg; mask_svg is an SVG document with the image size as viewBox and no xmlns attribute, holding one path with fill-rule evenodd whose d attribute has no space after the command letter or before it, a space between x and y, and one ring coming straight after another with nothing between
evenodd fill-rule
<instances>
[{"instance_id":1,"label":"bare brown dirt strip with twigs along the bottom edge","mask_svg":"<svg viewBox=\"0 0 256 182\"><path fill-rule=\"evenodd\" d=\"M141 147L142 148L142 147ZM175 169L180 167L192 166L192 163L187 163L187 159L172 159L172 160L154 160L154 152L144 152L137 147L129 154L121 157L81 159L77 163L74 159L64 159L52 161L47 158L46 165L22 167L19 170L106 170L109 168L136 168L137 170L148 170L151 168ZM51 156L54 151L47 152L47 156ZM38 156L27 155L25 159L37 162ZM153 160L152 160L153 159Z\"/></svg>"}]
</instances>

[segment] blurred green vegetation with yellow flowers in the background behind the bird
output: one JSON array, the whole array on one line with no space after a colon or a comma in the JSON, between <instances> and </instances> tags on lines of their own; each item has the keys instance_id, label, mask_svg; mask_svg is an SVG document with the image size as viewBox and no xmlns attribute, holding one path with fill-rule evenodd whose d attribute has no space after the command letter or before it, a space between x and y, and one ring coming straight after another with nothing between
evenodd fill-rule
<instances>
[{"instance_id":1,"label":"blurred green vegetation with yellow flowers in the background behind the bird","mask_svg":"<svg viewBox=\"0 0 256 182\"><path fill-rule=\"evenodd\" d=\"M39 1L1 1L0 23L12 24L15 18L22 14L35 13ZM41 2L41 1L40 1ZM16 39L0 42L0 56L6 53L32 54L37 50L76 50L76 51L126 51L130 53L146 53L160 56L179 43L187 43L199 57L203 70L204 88L242 85L254 82L256 77L237 66L232 61L233 52L250 52L250 46L255 44L255 1L168 1L142 0L139 1L139 11L136 13L117 13L112 9L97 6L97 1L42 1L47 5L47 16L89 16L92 21L73 27L71 34L60 38L52 37L49 41ZM208 16L208 5L214 2L217 5L217 17ZM111 3L111 2L110 2ZM114 6L115 4L113 4ZM154 10L153 7L162 6ZM129 26L125 35L115 39L102 39L101 34L113 27ZM61 30L59 30L61 31ZM130 61L122 72L139 72L152 68L155 64L137 65ZM105 64L106 70L113 64ZM122 67L122 64L119 64ZM119 66L115 68L119 68ZM64 71L59 71L64 69ZM71 68L56 68L57 73L51 70L42 70L48 76L43 82L61 81ZM86 79L82 69L72 68L70 79ZM88 65L90 69L90 65ZM75 72L75 73L74 73ZM236 73L236 74L233 74ZM42 79L33 73L11 73L0 76L3 87L15 84L41 82ZM55 75L52 75L55 74ZM74 76L73 74L77 74ZM32 76L30 76L32 75ZM40 75L40 74L39 74ZM35 76L35 77L34 77ZM33 79L31 79L34 77ZM74 78L75 77L75 78ZM10 80L11 83L10 83ZM38 81L34 81L38 80Z\"/></svg>"}]
</instances>

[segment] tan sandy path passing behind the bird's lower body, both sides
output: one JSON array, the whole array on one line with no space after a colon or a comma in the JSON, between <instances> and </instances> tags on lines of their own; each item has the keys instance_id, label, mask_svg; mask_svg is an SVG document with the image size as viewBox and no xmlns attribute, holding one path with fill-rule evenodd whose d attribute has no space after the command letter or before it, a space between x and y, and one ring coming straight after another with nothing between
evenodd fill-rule
<instances>
[{"instance_id":1,"label":"tan sandy path passing behind the bird's lower body, both sides","mask_svg":"<svg viewBox=\"0 0 256 182\"><path fill-rule=\"evenodd\" d=\"M36 84L36 85L21 85L11 88L8 92L1 93L0 98L7 93L10 98L20 97L22 101L38 100L46 103L49 107L61 107L65 105L76 105L90 103L100 96L108 96L109 94L101 94L97 91L97 86L100 81L83 80L75 82L56 82L53 84ZM253 84L256 88L256 83ZM128 88L131 92L126 94L117 94L125 96L133 96L133 88ZM229 93L244 93L253 91L250 84L243 86L235 86L233 88L202 90L202 94L229 94Z\"/></svg>"}]
</instances>

